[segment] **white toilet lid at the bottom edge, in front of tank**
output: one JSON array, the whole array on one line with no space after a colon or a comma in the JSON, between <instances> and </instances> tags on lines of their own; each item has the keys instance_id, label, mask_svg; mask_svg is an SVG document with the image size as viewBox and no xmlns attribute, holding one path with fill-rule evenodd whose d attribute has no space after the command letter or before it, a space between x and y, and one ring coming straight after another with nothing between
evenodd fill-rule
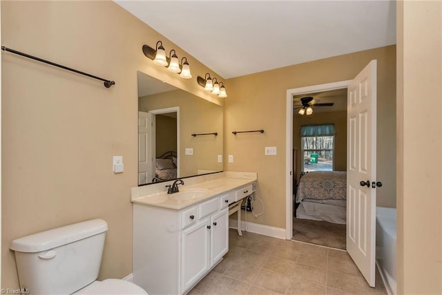
<instances>
[{"instance_id":1,"label":"white toilet lid at the bottom edge, in front of tank","mask_svg":"<svg viewBox=\"0 0 442 295\"><path fill-rule=\"evenodd\" d=\"M126 280L108 278L102 281L95 280L75 294L147 294L147 292L142 287Z\"/></svg>"}]
</instances>

